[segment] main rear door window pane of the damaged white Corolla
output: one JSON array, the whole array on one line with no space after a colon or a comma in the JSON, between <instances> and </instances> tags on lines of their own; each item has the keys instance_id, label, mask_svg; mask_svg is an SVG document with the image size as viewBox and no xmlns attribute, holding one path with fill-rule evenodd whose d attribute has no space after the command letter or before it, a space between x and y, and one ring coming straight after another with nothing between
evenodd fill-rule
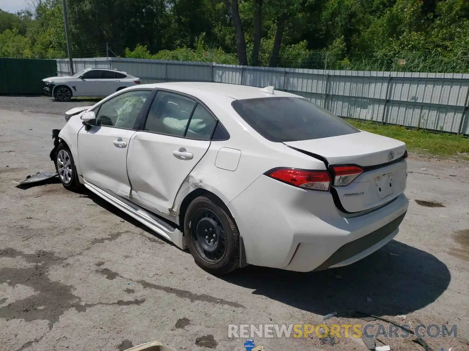
<instances>
[{"instance_id":1,"label":"main rear door window pane of the damaged white Corolla","mask_svg":"<svg viewBox=\"0 0 469 351\"><path fill-rule=\"evenodd\" d=\"M153 100L144 131L182 137L196 102L186 96L159 91Z\"/></svg>"}]
</instances>

